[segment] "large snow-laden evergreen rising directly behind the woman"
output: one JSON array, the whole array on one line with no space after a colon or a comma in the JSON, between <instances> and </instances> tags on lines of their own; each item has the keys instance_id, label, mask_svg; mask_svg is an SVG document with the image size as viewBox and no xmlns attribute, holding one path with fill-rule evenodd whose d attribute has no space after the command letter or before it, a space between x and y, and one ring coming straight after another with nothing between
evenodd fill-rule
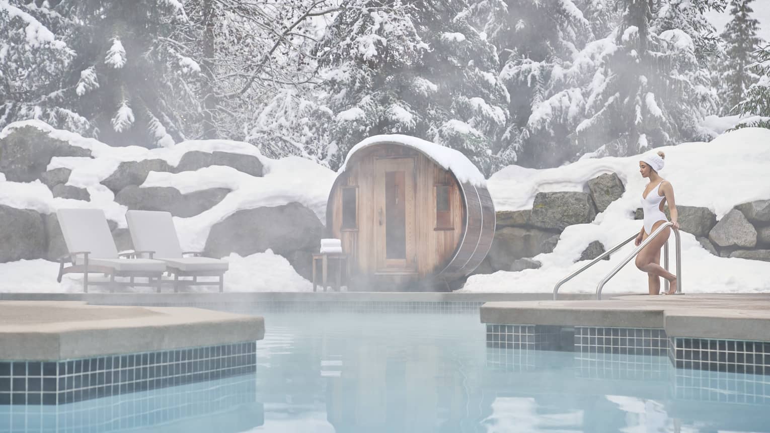
<instances>
[{"instance_id":1,"label":"large snow-laden evergreen rising directly behind the woman","mask_svg":"<svg viewBox=\"0 0 770 433\"><path fill-rule=\"evenodd\" d=\"M608 38L577 125L579 152L628 155L698 137L698 120L715 109L706 59L718 52L703 13L724 2L619 3L621 24Z\"/></svg>"}]
</instances>

